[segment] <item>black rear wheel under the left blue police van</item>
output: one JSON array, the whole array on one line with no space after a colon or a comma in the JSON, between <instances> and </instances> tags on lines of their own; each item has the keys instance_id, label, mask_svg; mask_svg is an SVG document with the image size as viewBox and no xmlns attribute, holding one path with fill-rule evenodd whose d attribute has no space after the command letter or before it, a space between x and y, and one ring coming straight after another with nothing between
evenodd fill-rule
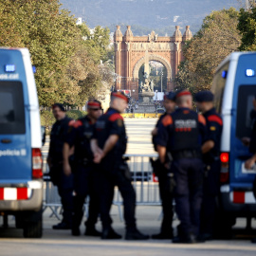
<instances>
[{"instance_id":1,"label":"black rear wheel under the left blue police van","mask_svg":"<svg viewBox=\"0 0 256 256\"><path fill-rule=\"evenodd\" d=\"M32 212L30 220L24 223L23 236L26 238L41 238L43 235L42 211Z\"/></svg>"}]
</instances>

